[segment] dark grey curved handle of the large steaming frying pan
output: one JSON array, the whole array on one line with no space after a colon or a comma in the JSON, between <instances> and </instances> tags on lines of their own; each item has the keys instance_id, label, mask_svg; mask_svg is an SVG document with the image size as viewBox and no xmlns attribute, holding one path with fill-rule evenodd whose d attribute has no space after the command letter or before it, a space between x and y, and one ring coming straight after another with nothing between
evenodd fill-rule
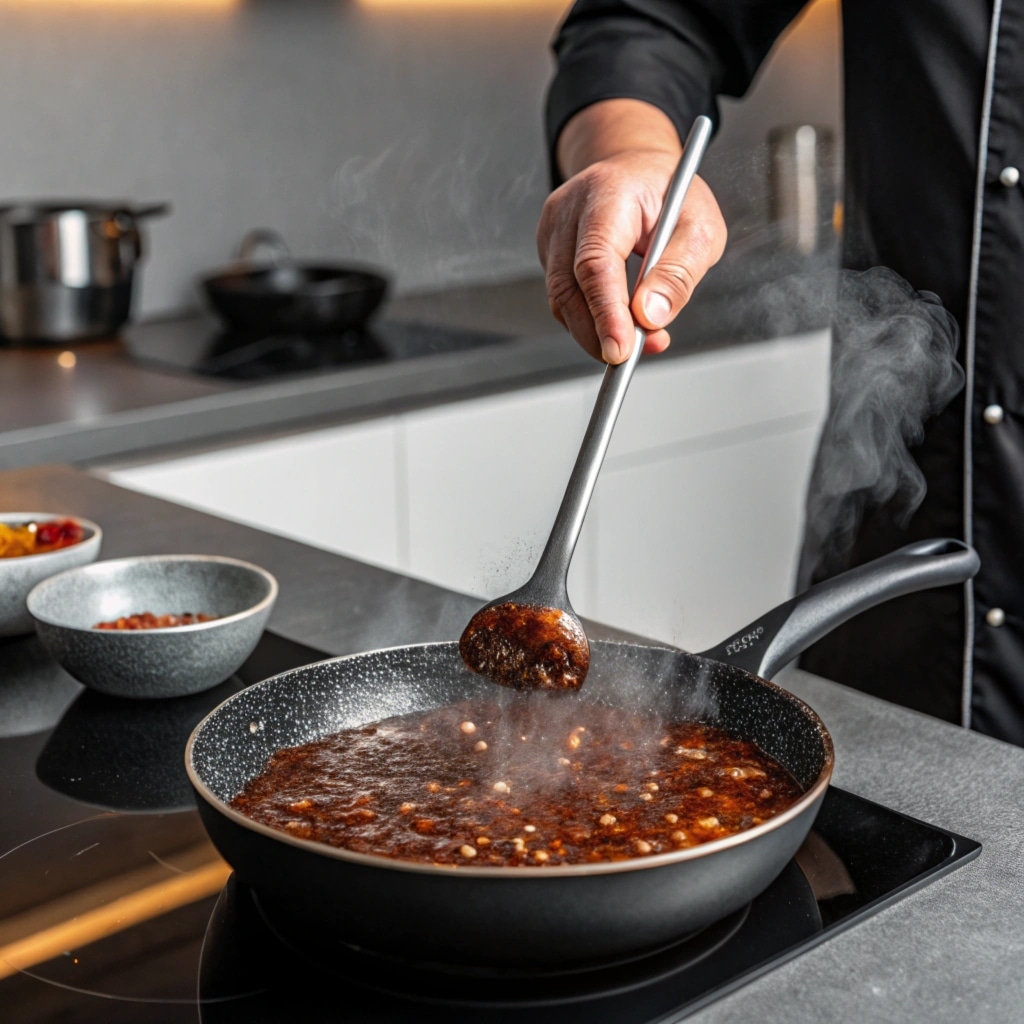
<instances>
[{"instance_id":1,"label":"dark grey curved handle of the large steaming frying pan","mask_svg":"<svg viewBox=\"0 0 1024 1024\"><path fill-rule=\"evenodd\" d=\"M963 541L918 541L811 587L700 656L771 679L848 618L894 597L967 583L980 565Z\"/></svg>"}]
</instances>

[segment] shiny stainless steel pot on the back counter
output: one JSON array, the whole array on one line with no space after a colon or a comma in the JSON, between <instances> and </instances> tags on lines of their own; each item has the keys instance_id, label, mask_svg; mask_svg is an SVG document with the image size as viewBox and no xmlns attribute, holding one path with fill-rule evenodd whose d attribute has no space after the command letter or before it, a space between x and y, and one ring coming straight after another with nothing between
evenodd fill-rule
<instances>
[{"instance_id":1,"label":"shiny stainless steel pot on the back counter","mask_svg":"<svg viewBox=\"0 0 1024 1024\"><path fill-rule=\"evenodd\" d=\"M138 222L166 204L0 205L0 336L69 342L113 334L131 311Z\"/></svg>"}]
</instances>

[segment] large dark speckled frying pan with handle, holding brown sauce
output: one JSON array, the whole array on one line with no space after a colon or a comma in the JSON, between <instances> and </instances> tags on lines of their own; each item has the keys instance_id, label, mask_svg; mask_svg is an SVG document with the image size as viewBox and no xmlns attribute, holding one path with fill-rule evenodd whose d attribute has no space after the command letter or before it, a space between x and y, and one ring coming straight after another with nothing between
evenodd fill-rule
<instances>
[{"instance_id":1,"label":"large dark speckled frying pan with handle, holding brown sauce","mask_svg":"<svg viewBox=\"0 0 1024 1024\"><path fill-rule=\"evenodd\" d=\"M919 542L819 584L702 654L592 645L586 684L560 699L718 725L752 740L804 788L776 817L701 846L611 863L454 868L296 839L228 806L283 746L493 696L495 684L463 666L454 642L353 654L257 683L200 723L186 770L214 845L286 934L322 949L355 946L398 964L470 973L536 974L623 961L742 907L810 829L831 775L831 739L818 716L770 677L858 612L963 583L977 569L978 556L958 541Z\"/></svg>"}]
</instances>

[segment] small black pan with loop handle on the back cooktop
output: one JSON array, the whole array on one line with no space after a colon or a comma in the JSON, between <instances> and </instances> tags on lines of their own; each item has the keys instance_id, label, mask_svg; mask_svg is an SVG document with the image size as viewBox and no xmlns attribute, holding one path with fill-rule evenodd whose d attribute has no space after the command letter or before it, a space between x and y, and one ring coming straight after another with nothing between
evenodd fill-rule
<instances>
[{"instance_id":1,"label":"small black pan with loop handle on the back cooktop","mask_svg":"<svg viewBox=\"0 0 1024 1024\"><path fill-rule=\"evenodd\" d=\"M260 251L269 262L255 262ZM214 311L243 334L343 334L365 324L388 281L366 267L296 261L274 231L242 243L241 262L202 280Z\"/></svg>"}]
</instances>

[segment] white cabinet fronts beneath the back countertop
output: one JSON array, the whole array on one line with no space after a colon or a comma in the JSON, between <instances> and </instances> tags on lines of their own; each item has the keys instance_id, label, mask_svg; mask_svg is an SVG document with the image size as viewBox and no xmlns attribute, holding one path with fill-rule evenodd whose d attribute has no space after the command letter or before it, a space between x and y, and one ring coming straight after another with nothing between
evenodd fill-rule
<instances>
[{"instance_id":1,"label":"white cabinet fronts beneath the back countertop","mask_svg":"<svg viewBox=\"0 0 1024 1024\"><path fill-rule=\"evenodd\" d=\"M817 331L640 367L572 559L581 614L701 650L792 594L828 347ZM592 375L106 474L494 598L534 570L598 384Z\"/></svg>"}]
</instances>

